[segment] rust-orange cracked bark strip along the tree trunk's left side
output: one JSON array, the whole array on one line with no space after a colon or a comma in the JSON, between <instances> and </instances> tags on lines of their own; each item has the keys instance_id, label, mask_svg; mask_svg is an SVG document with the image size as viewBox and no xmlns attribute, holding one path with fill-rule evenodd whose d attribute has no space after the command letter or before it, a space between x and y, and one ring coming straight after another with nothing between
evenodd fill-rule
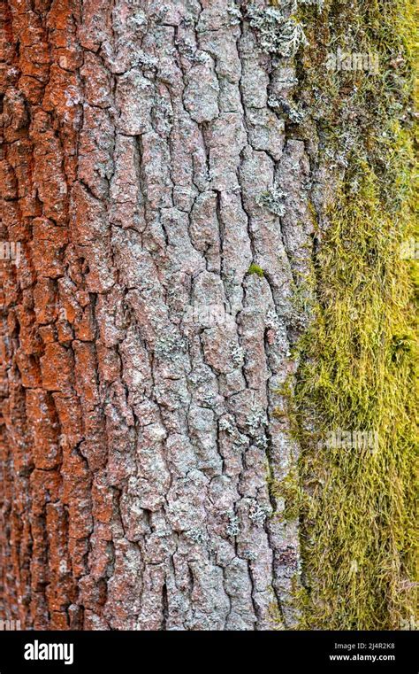
<instances>
[{"instance_id":1,"label":"rust-orange cracked bark strip along the tree trunk's left side","mask_svg":"<svg viewBox=\"0 0 419 674\"><path fill-rule=\"evenodd\" d=\"M80 332L85 338L87 321L80 303L66 320L59 298L65 280L83 292L83 259L69 252L80 3L16 0L1 12L1 238L20 242L22 251L19 266L4 260L1 269L0 616L26 628L67 629L82 621L69 569L86 568L90 516L73 347ZM72 498L76 492L80 500Z\"/></svg>"}]
</instances>

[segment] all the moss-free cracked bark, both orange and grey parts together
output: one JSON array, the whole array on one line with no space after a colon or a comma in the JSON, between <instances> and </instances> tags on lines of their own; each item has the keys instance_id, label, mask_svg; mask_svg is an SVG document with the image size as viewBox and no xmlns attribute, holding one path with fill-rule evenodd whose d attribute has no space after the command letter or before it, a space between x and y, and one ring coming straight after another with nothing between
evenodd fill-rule
<instances>
[{"instance_id":1,"label":"all the moss-free cracked bark, both orange and grey parts together","mask_svg":"<svg viewBox=\"0 0 419 674\"><path fill-rule=\"evenodd\" d=\"M272 412L310 148L238 10L3 5L0 616L25 628L294 623L268 478L297 452Z\"/></svg>"}]
</instances>

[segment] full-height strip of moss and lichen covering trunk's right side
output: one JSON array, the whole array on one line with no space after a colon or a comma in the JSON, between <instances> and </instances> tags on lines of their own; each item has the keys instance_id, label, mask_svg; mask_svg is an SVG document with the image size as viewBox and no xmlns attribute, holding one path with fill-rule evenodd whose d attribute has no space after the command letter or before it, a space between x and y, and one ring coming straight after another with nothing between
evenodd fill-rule
<instances>
[{"instance_id":1,"label":"full-height strip of moss and lichen covering trunk's right side","mask_svg":"<svg viewBox=\"0 0 419 674\"><path fill-rule=\"evenodd\" d=\"M329 2L321 19L301 8L311 47L300 96L316 120L321 160L345 168L314 253L312 322L296 383L281 391L301 459L298 475L276 488L286 516L301 522L296 600L306 629L416 624L418 272L400 255L414 236L413 12L410 0ZM379 74L325 73L339 41L377 52ZM339 429L377 433L377 451L327 446Z\"/></svg>"}]
</instances>

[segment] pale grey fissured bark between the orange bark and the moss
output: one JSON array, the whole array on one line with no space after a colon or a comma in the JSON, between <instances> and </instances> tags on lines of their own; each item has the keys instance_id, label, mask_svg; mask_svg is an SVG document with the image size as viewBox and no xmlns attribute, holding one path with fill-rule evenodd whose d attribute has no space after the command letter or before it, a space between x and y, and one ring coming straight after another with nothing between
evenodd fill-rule
<instances>
[{"instance_id":1,"label":"pale grey fissured bark between the orange bark and the moss","mask_svg":"<svg viewBox=\"0 0 419 674\"><path fill-rule=\"evenodd\" d=\"M121 368L101 382L121 515L103 616L117 629L266 629L277 605L294 620L297 523L270 518L281 504L267 476L296 459L272 411L295 367L309 157L268 105L293 66L272 68L231 10L117 4L86 83L107 174L83 176L85 198L112 250L98 260L92 248L92 290L101 345ZM91 626L101 620L92 613Z\"/></svg>"}]
</instances>

